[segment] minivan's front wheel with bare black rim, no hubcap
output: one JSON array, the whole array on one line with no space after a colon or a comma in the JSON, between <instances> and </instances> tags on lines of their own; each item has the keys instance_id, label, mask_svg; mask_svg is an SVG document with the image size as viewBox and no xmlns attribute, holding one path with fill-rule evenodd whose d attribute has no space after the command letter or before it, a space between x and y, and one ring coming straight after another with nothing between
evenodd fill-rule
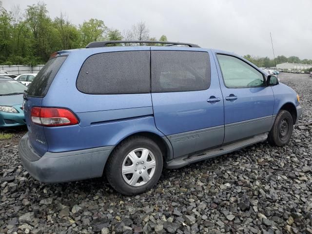
<instances>
[{"instance_id":1,"label":"minivan's front wheel with bare black rim, no hubcap","mask_svg":"<svg viewBox=\"0 0 312 234\"><path fill-rule=\"evenodd\" d=\"M269 133L268 141L271 145L284 146L288 144L292 137L292 115L285 110L281 110L274 121Z\"/></svg>"}]
</instances>

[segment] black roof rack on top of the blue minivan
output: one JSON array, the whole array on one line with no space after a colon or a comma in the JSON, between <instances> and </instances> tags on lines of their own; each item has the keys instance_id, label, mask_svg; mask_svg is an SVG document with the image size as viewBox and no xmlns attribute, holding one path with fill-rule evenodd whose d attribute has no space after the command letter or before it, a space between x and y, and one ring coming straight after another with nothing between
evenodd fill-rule
<instances>
[{"instance_id":1,"label":"black roof rack on top of the blue minivan","mask_svg":"<svg viewBox=\"0 0 312 234\"><path fill-rule=\"evenodd\" d=\"M167 44L166 46L174 45L187 45L189 47L199 47L196 44L183 43L183 42L171 42L171 41L159 41L159 40L105 40L105 41L94 41L87 44L86 48L95 48L95 47L105 47L108 44L127 44L127 43L151 43L151 44Z\"/></svg>"}]
</instances>

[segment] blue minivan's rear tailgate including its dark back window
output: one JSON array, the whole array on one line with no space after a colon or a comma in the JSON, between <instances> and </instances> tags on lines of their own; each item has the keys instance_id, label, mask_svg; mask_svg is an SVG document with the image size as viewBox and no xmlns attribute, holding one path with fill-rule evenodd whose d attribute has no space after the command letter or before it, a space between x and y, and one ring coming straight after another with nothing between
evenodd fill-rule
<instances>
[{"instance_id":1,"label":"blue minivan's rear tailgate including its dark back window","mask_svg":"<svg viewBox=\"0 0 312 234\"><path fill-rule=\"evenodd\" d=\"M48 144L44 135L43 127L34 124L31 120L31 109L40 107L43 97L59 71L59 68L65 61L66 56L58 56L50 59L39 71L24 94L24 115L28 129L29 143L31 147L42 156L48 149Z\"/></svg>"}]
</instances>

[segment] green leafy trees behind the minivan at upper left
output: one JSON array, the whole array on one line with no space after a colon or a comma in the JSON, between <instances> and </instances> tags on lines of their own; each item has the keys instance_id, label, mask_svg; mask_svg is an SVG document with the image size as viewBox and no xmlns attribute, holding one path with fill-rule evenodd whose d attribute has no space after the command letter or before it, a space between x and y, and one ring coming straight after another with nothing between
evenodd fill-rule
<instances>
[{"instance_id":1,"label":"green leafy trees behind the minivan at upper left","mask_svg":"<svg viewBox=\"0 0 312 234\"><path fill-rule=\"evenodd\" d=\"M51 19L46 4L39 1L27 6L24 13L19 5L14 5L11 12L0 11L0 35L0 64L38 65L56 51L85 47L92 41L145 40L149 38L149 29L141 21L122 36L119 30L108 29L103 20L85 20L76 26L62 13ZM162 35L160 40L167 37Z\"/></svg>"}]
</instances>

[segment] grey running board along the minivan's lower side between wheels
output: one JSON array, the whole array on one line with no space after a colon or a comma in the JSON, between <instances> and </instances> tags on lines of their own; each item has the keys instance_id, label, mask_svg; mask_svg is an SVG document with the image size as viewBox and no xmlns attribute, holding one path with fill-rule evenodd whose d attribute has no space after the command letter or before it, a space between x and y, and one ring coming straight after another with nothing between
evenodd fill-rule
<instances>
[{"instance_id":1,"label":"grey running board along the minivan's lower side between wheels","mask_svg":"<svg viewBox=\"0 0 312 234\"><path fill-rule=\"evenodd\" d=\"M205 160L208 158L228 154L233 151L239 150L241 148L245 148L255 143L264 141L267 138L268 138L268 133L259 134L254 137L236 141L232 144L223 145L215 149L210 149L210 150L200 152L200 153L195 153L192 155L181 156L181 157L178 157L176 159L173 159L167 162L167 168L168 169L180 168L180 167L184 167L194 162L198 162L198 161Z\"/></svg>"}]
</instances>

